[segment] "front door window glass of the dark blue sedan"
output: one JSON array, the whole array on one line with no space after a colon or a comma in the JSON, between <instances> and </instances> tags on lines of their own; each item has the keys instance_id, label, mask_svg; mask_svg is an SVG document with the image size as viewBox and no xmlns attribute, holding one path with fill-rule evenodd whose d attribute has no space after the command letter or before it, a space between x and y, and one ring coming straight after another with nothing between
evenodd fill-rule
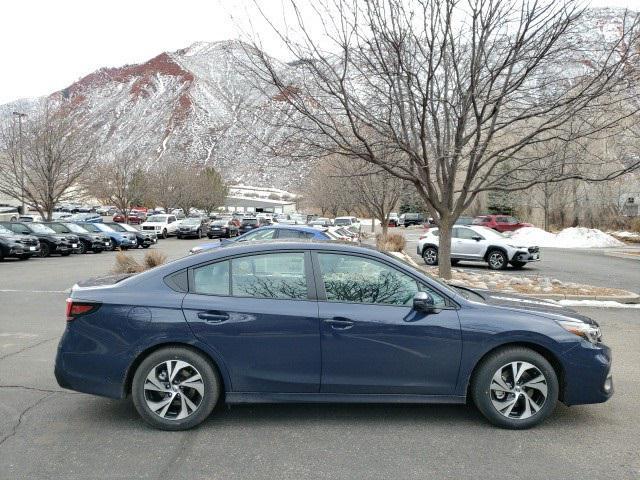
<instances>
[{"instance_id":1,"label":"front door window glass of the dark blue sedan","mask_svg":"<svg viewBox=\"0 0 640 480\"><path fill-rule=\"evenodd\" d=\"M418 283L384 263L334 253L318 254L330 302L411 305Z\"/></svg>"}]
</instances>

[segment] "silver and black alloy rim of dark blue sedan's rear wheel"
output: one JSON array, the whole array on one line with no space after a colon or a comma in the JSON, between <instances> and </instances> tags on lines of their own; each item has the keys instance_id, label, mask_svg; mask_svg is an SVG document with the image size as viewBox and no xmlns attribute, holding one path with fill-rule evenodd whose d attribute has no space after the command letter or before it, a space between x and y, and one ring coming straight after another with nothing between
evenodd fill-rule
<instances>
[{"instance_id":1,"label":"silver and black alloy rim of dark blue sedan's rear wheel","mask_svg":"<svg viewBox=\"0 0 640 480\"><path fill-rule=\"evenodd\" d=\"M192 415L205 392L200 372L183 360L167 360L153 367L143 388L147 407L166 420Z\"/></svg>"}]
</instances>

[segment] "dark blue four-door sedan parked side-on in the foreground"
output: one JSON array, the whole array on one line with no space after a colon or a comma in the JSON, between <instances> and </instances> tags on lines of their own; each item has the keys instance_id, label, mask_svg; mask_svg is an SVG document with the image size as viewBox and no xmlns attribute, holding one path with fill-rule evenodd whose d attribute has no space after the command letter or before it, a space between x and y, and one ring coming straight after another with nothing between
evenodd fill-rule
<instances>
[{"instance_id":1,"label":"dark blue four-door sedan parked side-on in the foreground","mask_svg":"<svg viewBox=\"0 0 640 480\"><path fill-rule=\"evenodd\" d=\"M151 425L219 402L465 403L531 427L557 401L606 401L593 320L453 290L397 258L333 242L239 243L73 287L60 386L125 398Z\"/></svg>"}]
</instances>

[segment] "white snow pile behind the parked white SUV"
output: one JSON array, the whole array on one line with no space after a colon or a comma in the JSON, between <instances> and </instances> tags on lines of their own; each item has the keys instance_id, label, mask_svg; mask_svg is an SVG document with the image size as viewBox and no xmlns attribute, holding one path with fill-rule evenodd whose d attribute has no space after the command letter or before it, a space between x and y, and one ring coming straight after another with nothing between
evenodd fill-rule
<instances>
[{"instance_id":1,"label":"white snow pile behind the parked white SUV","mask_svg":"<svg viewBox=\"0 0 640 480\"><path fill-rule=\"evenodd\" d=\"M551 233L536 227L524 227L511 235L515 244L550 248L620 247L624 243L596 228L571 227Z\"/></svg>"}]
</instances>

